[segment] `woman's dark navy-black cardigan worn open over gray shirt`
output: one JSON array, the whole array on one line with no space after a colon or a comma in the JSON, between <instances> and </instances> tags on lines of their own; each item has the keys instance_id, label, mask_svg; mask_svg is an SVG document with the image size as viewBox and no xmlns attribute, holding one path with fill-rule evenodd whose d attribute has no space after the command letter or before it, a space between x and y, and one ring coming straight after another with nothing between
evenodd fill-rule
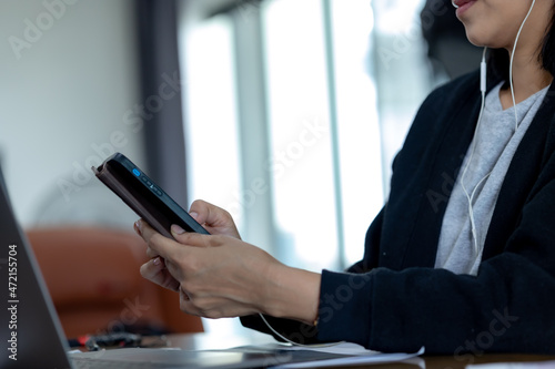
<instances>
[{"instance_id":1,"label":"woman's dark navy-black cardigan worn open over gray shirt","mask_svg":"<svg viewBox=\"0 0 555 369\"><path fill-rule=\"evenodd\" d=\"M491 81L490 89L498 81ZM322 274L317 328L271 319L302 342L380 351L555 353L555 83L501 188L477 276L434 269L443 215L472 141L480 74L435 90L393 164L363 260ZM268 331L255 316L243 325Z\"/></svg>"}]
</instances>

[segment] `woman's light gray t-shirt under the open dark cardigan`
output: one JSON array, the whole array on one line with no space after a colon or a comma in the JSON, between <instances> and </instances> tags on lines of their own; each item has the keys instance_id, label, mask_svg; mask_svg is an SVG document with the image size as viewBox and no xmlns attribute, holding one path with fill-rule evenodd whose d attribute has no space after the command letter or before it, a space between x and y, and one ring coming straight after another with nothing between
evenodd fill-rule
<instances>
[{"instance_id":1,"label":"woman's light gray t-shirt under the open dark cardigan","mask_svg":"<svg viewBox=\"0 0 555 369\"><path fill-rule=\"evenodd\" d=\"M503 110L500 90L501 84L486 96L480 126L453 187L440 234L436 268L455 274L477 274L487 228L505 174L548 89L516 105L516 132L515 107ZM472 162L468 164L470 160ZM461 185L462 180L466 193ZM471 228L468 197L472 198L476 243Z\"/></svg>"}]
</instances>

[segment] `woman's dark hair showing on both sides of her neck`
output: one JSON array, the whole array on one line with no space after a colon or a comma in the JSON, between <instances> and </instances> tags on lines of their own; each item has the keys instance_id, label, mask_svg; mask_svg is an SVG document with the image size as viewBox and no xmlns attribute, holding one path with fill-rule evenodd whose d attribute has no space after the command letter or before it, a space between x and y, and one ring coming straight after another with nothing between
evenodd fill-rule
<instances>
[{"instance_id":1,"label":"woman's dark hair showing on both sides of her neck","mask_svg":"<svg viewBox=\"0 0 555 369\"><path fill-rule=\"evenodd\" d=\"M549 29L545 33L541 44L538 62L542 68L555 76L555 4L553 7ZM508 81L509 57L505 49L493 49L490 51L490 64L497 78Z\"/></svg>"}]
</instances>

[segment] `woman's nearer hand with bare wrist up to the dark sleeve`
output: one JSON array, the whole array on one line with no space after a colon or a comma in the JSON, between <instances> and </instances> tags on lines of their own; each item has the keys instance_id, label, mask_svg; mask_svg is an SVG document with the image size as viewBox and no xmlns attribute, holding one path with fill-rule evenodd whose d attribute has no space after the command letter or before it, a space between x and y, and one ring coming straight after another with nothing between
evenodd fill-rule
<instances>
[{"instance_id":1,"label":"woman's nearer hand with bare wrist up to the dark sleeve","mask_svg":"<svg viewBox=\"0 0 555 369\"><path fill-rule=\"evenodd\" d=\"M222 224L219 229L232 229ZM138 227L153 256L141 274L178 290L181 310L208 318L264 312L306 322L315 319L320 275L289 268L233 237L238 235L233 232L200 235L172 227L175 242L145 222L138 222Z\"/></svg>"}]
</instances>

